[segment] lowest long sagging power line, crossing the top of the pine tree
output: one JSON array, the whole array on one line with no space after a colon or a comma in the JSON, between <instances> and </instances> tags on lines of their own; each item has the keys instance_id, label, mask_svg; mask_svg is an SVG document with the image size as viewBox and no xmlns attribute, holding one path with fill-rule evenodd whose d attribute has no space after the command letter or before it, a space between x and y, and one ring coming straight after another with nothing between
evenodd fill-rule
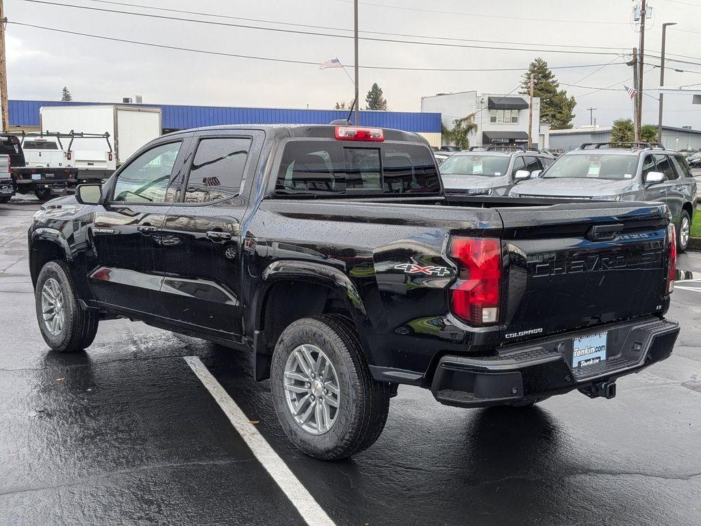
<instances>
[{"instance_id":1,"label":"lowest long sagging power line, crossing the top of the pine tree","mask_svg":"<svg viewBox=\"0 0 701 526\"><path fill-rule=\"evenodd\" d=\"M113 36L105 36L105 35L83 33L83 32L77 32L77 31L69 31L68 29L58 29L56 27L46 27L46 26L41 26L41 25L36 25L36 24L27 24L25 22L8 21L7 23L19 25L19 26L23 26L23 27L32 27L34 29L43 29L45 31L53 31L53 32L57 32L57 33L72 34L72 35L76 35L76 36L87 36L87 37L93 38L93 39L101 39L101 40L123 42L123 43L132 43L132 44L137 44L139 46L150 46L150 47L154 47L154 48L189 51L191 53L202 53L205 55L218 55L218 56L223 56L223 57L246 58L246 59L251 59L251 60L265 60L267 62L285 62L288 64L303 64L303 65L311 65L311 66L318 66L321 63L321 62L312 62L310 60L291 60L291 59L285 59L285 58L261 57L258 55L240 55L237 53L224 53L223 51L211 51L211 50L204 50L204 49L197 49L197 48L186 48L186 47L182 47L182 46L169 46L168 44L159 44L159 43L154 43L154 42L144 42L144 41L130 40L130 39L119 39L119 38L116 38ZM620 62L620 63L622 64L623 62ZM576 66L553 66L550 69L576 69L576 68L597 67L597 66L601 66L601 64L586 64L586 65L576 65ZM422 72L423 71L428 71L428 72L509 72L509 71L526 71L526 69L528 69L528 68L462 69L462 68L436 68L436 67L421 68L421 67L393 67L393 66L360 66L360 68L362 68L362 69L388 69L388 70L393 70L393 71L422 71Z\"/></svg>"}]
</instances>

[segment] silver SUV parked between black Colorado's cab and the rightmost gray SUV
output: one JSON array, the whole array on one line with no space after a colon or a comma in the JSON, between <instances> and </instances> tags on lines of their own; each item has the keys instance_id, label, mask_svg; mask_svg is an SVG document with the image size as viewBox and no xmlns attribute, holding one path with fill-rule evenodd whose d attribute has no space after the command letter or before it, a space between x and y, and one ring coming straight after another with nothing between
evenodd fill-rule
<instances>
[{"instance_id":1,"label":"silver SUV parked between black Colorado's cab and the rightmost gray SUV","mask_svg":"<svg viewBox=\"0 0 701 526\"><path fill-rule=\"evenodd\" d=\"M545 170L552 156L522 147L471 147L440 165L447 192L505 196L515 184Z\"/></svg>"}]
</instances>

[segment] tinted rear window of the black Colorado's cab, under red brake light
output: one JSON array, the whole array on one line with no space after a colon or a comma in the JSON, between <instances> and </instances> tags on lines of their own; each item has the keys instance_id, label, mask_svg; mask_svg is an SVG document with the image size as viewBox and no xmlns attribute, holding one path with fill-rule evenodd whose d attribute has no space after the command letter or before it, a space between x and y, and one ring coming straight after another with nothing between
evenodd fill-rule
<instances>
[{"instance_id":1,"label":"tinted rear window of the black Colorado's cab, under red brake light","mask_svg":"<svg viewBox=\"0 0 701 526\"><path fill-rule=\"evenodd\" d=\"M421 144L290 141L285 145L275 193L437 194L433 155Z\"/></svg>"}]
</instances>

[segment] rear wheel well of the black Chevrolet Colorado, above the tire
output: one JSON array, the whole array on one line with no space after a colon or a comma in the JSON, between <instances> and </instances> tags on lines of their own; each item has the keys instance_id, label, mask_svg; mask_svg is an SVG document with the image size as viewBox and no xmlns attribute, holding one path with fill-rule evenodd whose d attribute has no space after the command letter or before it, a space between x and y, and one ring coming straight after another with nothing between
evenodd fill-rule
<instances>
[{"instance_id":1,"label":"rear wheel well of the black Chevrolet Colorado, above the tire","mask_svg":"<svg viewBox=\"0 0 701 526\"><path fill-rule=\"evenodd\" d=\"M270 358L283 330L293 321L318 314L340 314L352 319L342 295L325 285L281 281L268 290L259 323L265 334L265 342L256 349L256 379L270 377Z\"/></svg>"}]
</instances>

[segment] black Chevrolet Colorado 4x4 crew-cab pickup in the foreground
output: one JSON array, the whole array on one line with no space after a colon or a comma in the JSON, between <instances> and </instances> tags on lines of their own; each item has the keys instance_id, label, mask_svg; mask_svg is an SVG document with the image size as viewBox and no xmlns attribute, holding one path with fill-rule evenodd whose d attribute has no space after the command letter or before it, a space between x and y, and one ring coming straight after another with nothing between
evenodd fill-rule
<instances>
[{"instance_id":1,"label":"black Chevrolet Colorado 4x4 crew-cab pickup in the foreground","mask_svg":"<svg viewBox=\"0 0 701 526\"><path fill-rule=\"evenodd\" d=\"M250 353L285 433L365 449L398 384L527 407L672 353L676 246L660 203L446 196L418 135L225 126L159 137L29 229L55 351L121 317Z\"/></svg>"}]
</instances>

